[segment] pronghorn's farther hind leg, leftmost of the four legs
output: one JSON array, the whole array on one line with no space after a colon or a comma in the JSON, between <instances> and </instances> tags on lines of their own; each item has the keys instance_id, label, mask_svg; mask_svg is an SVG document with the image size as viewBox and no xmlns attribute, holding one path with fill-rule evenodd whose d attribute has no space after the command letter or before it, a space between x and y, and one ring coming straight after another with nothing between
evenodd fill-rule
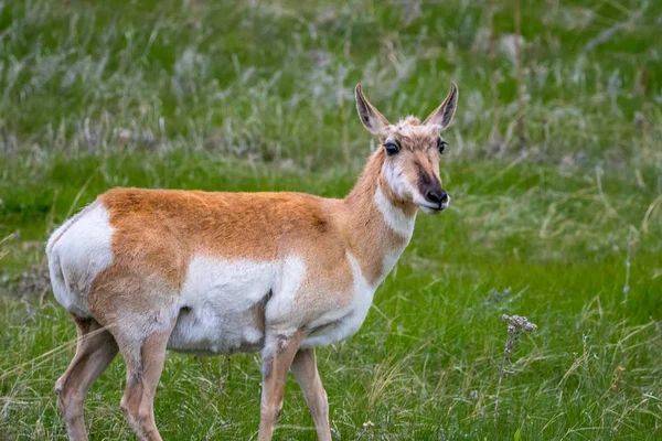
<instances>
[{"instance_id":1,"label":"pronghorn's farther hind leg, leftmost of the four legs","mask_svg":"<svg viewBox=\"0 0 662 441\"><path fill-rule=\"evenodd\" d=\"M55 383L55 392L70 440L86 441L87 431L83 420L85 396L117 355L117 343L96 320L74 320L78 333L76 355Z\"/></svg>"}]
</instances>

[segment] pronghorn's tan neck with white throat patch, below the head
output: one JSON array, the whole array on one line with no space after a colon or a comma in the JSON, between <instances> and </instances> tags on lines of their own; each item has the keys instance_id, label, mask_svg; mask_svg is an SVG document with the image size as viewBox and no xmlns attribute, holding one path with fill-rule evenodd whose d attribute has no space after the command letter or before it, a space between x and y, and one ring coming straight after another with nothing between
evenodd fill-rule
<instances>
[{"instance_id":1,"label":"pronghorn's tan neck with white throat patch, below the head","mask_svg":"<svg viewBox=\"0 0 662 441\"><path fill-rule=\"evenodd\" d=\"M378 284L409 244L418 207L398 197L382 170L384 151L369 159L356 185L345 197L348 238L366 279Z\"/></svg>"}]
</instances>

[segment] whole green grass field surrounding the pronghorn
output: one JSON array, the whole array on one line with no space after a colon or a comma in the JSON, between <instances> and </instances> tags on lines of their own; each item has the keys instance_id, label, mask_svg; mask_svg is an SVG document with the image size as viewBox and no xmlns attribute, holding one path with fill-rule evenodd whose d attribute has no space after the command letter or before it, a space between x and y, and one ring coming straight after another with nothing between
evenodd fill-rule
<instances>
[{"instance_id":1,"label":"whole green grass field surrounding the pronghorn","mask_svg":"<svg viewBox=\"0 0 662 441\"><path fill-rule=\"evenodd\" d=\"M374 147L354 84L424 117L451 79L452 205L318 351L334 439L662 438L662 3L520 3L519 56L515 1L0 3L0 440L66 438L75 329L43 271L64 218L118 185L341 197ZM503 314L538 326L510 365ZM255 438L259 366L170 354L163 438ZM134 439L122 389L118 357L92 439ZM292 379L275 438L316 439Z\"/></svg>"}]
</instances>

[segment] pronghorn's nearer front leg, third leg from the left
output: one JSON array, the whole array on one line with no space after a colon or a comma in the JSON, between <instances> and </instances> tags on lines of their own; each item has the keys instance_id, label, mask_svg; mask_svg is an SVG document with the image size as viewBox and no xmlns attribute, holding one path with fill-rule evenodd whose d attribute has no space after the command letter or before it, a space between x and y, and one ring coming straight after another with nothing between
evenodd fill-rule
<instances>
[{"instance_id":1,"label":"pronghorn's nearer front leg, third leg from the left","mask_svg":"<svg viewBox=\"0 0 662 441\"><path fill-rule=\"evenodd\" d=\"M307 332L291 336L267 334L263 349L263 394L259 416L259 441L269 441L285 396L285 380Z\"/></svg>"}]
</instances>

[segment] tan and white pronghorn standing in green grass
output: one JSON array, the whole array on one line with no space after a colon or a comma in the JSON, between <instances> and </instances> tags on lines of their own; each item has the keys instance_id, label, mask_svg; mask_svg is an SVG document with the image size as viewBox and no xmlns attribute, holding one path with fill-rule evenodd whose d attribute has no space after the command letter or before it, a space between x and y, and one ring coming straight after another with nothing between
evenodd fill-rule
<instances>
[{"instance_id":1,"label":"tan and white pronghorn standing in green grass","mask_svg":"<svg viewBox=\"0 0 662 441\"><path fill-rule=\"evenodd\" d=\"M85 396L121 352L121 410L140 440L160 440L153 399L167 349L261 351L258 439L273 435L289 368L318 438L331 439L314 347L359 331L412 238L418 208L437 214L448 206L440 132L458 100L451 83L425 122L391 125L361 85L354 94L363 126L381 146L344 200L114 189L53 233L53 292L78 334L55 384L70 439L87 439Z\"/></svg>"}]
</instances>

